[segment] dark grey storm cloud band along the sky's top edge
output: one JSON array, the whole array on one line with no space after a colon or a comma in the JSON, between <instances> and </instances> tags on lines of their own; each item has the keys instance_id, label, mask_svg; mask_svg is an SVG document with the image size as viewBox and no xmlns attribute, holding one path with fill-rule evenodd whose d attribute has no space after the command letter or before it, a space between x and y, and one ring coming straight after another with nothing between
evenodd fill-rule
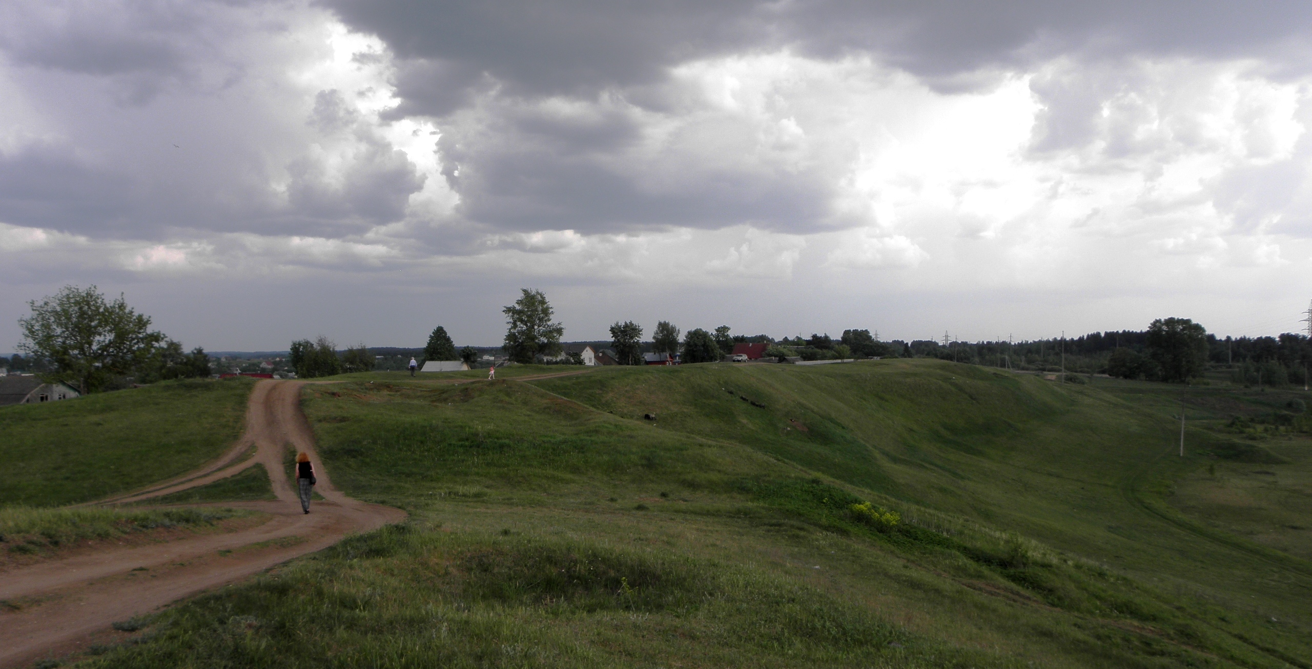
<instances>
[{"instance_id":1,"label":"dark grey storm cloud band along the sky's top edge","mask_svg":"<svg viewBox=\"0 0 1312 669\"><path fill-rule=\"evenodd\" d=\"M420 1L325 0L415 69L407 99L487 75L514 94L583 94L660 80L687 60L791 47L879 55L945 76L1072 50L1253 55L1304 41L1312 4L1232 1ZM430 113L445 113L437 103Z\"/></svg>"}]
</instances>

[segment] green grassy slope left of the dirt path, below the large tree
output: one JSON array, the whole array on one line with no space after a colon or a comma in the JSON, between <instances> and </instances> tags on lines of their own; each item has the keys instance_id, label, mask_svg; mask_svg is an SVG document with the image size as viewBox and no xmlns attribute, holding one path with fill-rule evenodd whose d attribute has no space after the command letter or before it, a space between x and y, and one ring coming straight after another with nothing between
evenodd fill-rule
<instances>
[{"instance_id":1,"label":"green grassy slope left of the dirt path, below the large tree","mask_svg":"<svg viewBox=\"0 0 1312 669\"><path fill-rule=\"evenodd\" d=\"M0 408L0 505L88 501L197 469L240 436L252 385L168 381Z\"/></svg>"}]
</instances>

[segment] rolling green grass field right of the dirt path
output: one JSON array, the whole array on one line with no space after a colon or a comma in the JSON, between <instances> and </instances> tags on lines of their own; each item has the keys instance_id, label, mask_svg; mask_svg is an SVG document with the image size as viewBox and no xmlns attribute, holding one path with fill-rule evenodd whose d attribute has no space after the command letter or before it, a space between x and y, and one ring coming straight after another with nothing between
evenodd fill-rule
<instances>
[{"instance_id":1,"label":"rolling green grass field right of the dirt path","mask_svg":"<svg viewBox=\"0 0 1312 669\"><path fill-rule=\"evenodd\" d=\"M1303 393L937 360L392 376L303 407L335 483L409 522L85 662L1309 666Z\"/></svg>"}]
</instances>

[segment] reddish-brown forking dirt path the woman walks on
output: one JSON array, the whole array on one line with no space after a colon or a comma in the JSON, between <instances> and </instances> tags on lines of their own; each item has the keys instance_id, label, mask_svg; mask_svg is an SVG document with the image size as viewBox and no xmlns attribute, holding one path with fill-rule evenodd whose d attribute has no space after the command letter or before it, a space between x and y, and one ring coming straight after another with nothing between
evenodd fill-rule
<instances>
[{"instance_id":1,"label":"reddish-brown forking dirt path the woman walks on","mask_svg":"<svg viewBox=\"0 0 1312 669\"><path fill-rule=\"evenodd\" d=\"M121 551L79 555L0 572L0 600L17 611L0 613L0 666L20 666L45 656L77 651L110 623L240 580L291 558L328 547L350 533L405 518L405 512L365 504L341 494L315 452L314 432L300 412L303 381L261 381L251 393L245 432L215 463L152 490L108 503L140 501L203 486L262 463L278 501L224 503L264 511L258 528ZM319 484L310 515L283 469L291 444L315 462ZM248 458L243 454L253 453ZM219 554L223 551L224 554ZM231 552L228 552L231 551Z\"/></svg>"}]
</instances>

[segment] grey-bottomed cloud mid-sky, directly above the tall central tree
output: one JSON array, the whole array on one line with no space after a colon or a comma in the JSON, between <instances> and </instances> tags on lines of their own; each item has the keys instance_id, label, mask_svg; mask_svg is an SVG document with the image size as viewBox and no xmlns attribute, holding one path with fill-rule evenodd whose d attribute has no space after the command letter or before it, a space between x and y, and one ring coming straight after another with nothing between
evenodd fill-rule
<instances>
[{"instance_id":1,"label":"grey-bottomed cloud mid-sky, directly above the tall central tree","mask_svg":"<svg viewBox=\"0 0 1312 669\"><path fill-rule=\"evenodd\" d=\"M752 128L691 128L750 151ZM516 230L623 232L686 225L796 228L827 216L833 183L823 170L743 165L703 154L695 137L649 152L623 114L559 117L485 111L453 123L438 147L459 212Z\"/></svg>"}]
</instances>

